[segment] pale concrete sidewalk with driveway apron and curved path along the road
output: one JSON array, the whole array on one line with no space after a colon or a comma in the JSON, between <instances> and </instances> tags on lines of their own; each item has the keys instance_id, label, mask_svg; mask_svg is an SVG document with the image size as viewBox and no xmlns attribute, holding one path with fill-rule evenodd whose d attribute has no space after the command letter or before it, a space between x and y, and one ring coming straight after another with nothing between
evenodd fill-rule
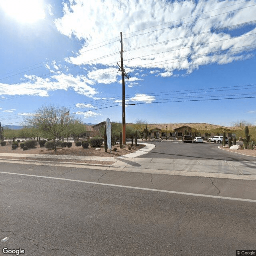
<instances>
[{"instance_id":1,"label":"pale concrete sidewalk with driveway apron and curved path along the road","mask_svg":"<svg viewBox=\"0 0 256 256\"><path fill-rule=\"evenodd\" d=\"M142 143L141 143L142 144ZM68 155L47 155L47 154L8 154L0 153L0 162L14 162L40 165L73 166L78 168L94 168L101 170L125 171L125 172L146 172L154 174L182 175L182 176L202 176L215 178L232 178L244 180L256 180L256 161L225 161L225 160L188 160L173 158L138 158L152 150L154 144L146 146L134 153L119 157L97 157L97 156L68 156ZM12 159L4 159L4 157ZM26 157L26 160L18 160ZM35 158L45 158L45 161L38 161ZM34 160L33 160L34 159ZM113 164L86 164L71 162L47 162L47 159L63 160L92 160L102 162L113 162Z\"/></svg>"}]
</instances>

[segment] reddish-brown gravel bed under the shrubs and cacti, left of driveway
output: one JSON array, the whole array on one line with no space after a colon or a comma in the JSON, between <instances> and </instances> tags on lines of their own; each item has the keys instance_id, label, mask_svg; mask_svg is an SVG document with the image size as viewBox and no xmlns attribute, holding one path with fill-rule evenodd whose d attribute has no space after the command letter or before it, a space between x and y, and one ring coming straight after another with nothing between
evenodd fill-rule
<instances>
[{"instance_id":1,"label":"reddish-brown gravel bed under the shrubs and cacti, left of driveway","mask_svg":"<svg viewBox=\"0 0 256 256\"><path fill-rule=\"evenodd\" d=\"M49 155L68 155L68 156L105 156L105 157L115 157L115 156L123 156L126 154L133 153L141 148L144 148L145 145L138 144L139 146L133 147L130 143L124 145L124 148L120 148L119 145L114 146L117 151L112 151L110 155L110 150L108 149L107 152L104 151L104 146L100 146L100 150L95 150L95 148L83 148L82 146L74 146L74 142L72 142L72 146L70 148L57 148L57 152L54 150L47 150L44 147L40 147L37 145L34 148L28 148L28 150L23 150L22 148L18 147L17 149L12 149L12 146L9 142L6 142L6 146L0 146L0 153L12 153L12 154L49 154ZM131 149L129 150L129 146Z\"/></svg>"}]
</instances>

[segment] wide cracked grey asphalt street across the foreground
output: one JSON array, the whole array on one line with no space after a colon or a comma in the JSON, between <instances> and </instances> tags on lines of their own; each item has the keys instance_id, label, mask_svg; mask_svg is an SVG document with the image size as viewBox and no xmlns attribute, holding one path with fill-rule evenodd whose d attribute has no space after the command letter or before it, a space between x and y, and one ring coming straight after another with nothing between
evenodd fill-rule
<instances>
[{"instance_id":1,"label":"wide cracked grey asphalt street across the foreground","mask_svg":"<svg viewBox=\"0 0 256 256\"><path fill-rule=\"evenodd\" d=\"M9 237L1 249L22 248L26 256L233 256L255 249L256 202L243 201L256 200L255 181L10 163L0 170L0 235Z\"/></svg>"}]
</instances>

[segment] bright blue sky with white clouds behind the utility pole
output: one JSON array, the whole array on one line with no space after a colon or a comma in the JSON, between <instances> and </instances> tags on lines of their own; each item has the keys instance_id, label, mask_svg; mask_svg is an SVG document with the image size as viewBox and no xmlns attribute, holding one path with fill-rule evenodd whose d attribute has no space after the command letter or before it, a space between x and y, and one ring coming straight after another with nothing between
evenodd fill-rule
<instances>
[{"instance_id":1,"label":"bright blue sky with white clouds behind the utility pole","mask_svg":"<svg viewBox=\"0 0 256 256\"><path fill-rule=\"evenodd\" d=\"M0 122L44 104L122 121L122 32L126 122L256 125L255 13L255 0L2 0Z\"/></svg>"}]
</instances>

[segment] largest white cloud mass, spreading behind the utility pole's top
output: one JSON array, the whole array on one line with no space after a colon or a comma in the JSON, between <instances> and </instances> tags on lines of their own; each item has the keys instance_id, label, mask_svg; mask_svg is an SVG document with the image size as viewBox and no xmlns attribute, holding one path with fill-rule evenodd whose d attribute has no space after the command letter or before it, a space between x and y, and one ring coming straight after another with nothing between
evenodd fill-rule
<instances>
[{"instance_id":1,"label":"largest white cloud mass, spreading behind the utility pole's top","mask_svg":"<svg viewBox=\"0 0 256 256\"><path fill-rule=\"evenodd\" d=\"M234 28L214 30L255 20L256 6L245 8L253 3L246 1L238 4L238 1L232 0L124 0L120 4L116 0L72 0L70 4L64 3L64 15L55 20L55 24L62 34L85 40L78 56L69 58L72 64L116 66L116 60L120 58L118 37L120 31L125 31L123 44L127 61L124 61L124 65L154 69L150 71L151 74L161 69L163 76L169 76L174 70L191 73L201 65L226 64L250 58L250 50L232 52L232 48L239 50L237 47L255 44L256 36L246 34L252 34L256 29L247 26L247 30L244 30L247 32L240 30L239 33L243 35L240 38L232 36ZM232 15L228 13L238 8L240 10L234 11ZM141 31L134 32L137 30ZM100 41L107 41L98 44L99 35ZM93 50L95 44L97 49ZM219 50L226 50L226 55L209 54ZM205 55L198 54L205 53L208 53L207 58L199 58ZM184 57L183 61L180 61L181 57ZM116 76L102 81L106 84L110 82L116 82Z\"/></svg>"}]
</instances>

